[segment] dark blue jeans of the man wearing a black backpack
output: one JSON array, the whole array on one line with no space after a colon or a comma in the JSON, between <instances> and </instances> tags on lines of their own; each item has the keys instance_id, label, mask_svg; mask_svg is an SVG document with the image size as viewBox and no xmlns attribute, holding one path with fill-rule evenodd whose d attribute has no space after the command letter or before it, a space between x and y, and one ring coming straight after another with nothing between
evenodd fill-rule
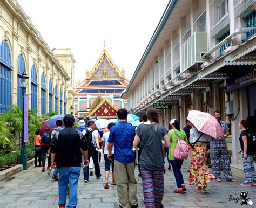
<instances>
[{"instance_id":1,"label":"dark blue jeans of the man wearing a black backpack","mask_svg":"<svg viewBox=\"0 0 256 208\"><path fill-rule=\"evenodd\" d=\"M90 158L92 157L93 163L94 163L94 168L95 168L95 175L97 178L102 176L100 174L100 169L99 169L99 157L98 157L98 151L96 151L96 148L93 148L92 150L88 150L88 160L90 162ZM84 167L84 180L89 180L89 166Z\"/></svg>"}]
</instances>

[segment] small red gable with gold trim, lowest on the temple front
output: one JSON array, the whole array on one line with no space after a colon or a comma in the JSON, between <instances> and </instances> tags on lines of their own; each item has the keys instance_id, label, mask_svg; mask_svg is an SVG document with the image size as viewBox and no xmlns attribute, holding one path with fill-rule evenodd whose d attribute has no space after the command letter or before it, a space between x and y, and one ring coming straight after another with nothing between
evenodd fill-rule
<instances>
[{"instance_id":1,"label":"small red gable with gold trim, lowest on the temple front","mask_svg":"<svg viewBox=\"0 0 256 208\"><path fill-rule=\"evenodd\" d=\"M97 116L101 118L116 118L117 117L117 109L112 106L110 101L105 98L99 105L96 106L91 112L89 112L89 116Z\"/></svg>"}]
</instances>

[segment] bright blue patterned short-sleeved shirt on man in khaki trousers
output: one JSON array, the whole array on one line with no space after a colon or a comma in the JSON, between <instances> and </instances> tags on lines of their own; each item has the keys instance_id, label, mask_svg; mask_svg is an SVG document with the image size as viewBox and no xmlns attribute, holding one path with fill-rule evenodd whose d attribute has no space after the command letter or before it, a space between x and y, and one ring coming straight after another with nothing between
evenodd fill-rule
<instances>
[{"instance_id":1,"label":"bright blue patterned short-sleeved shirt on man in khaki trousers","mask_svg":"<svg viewBox=\"0 0 256 208\"><path fill-rule=\"evenodd\" d=\"M132 151L134 136L135 128L126 121L120 121L111 127L108 142L114 143L114 160L124 164L135 161Z\"/></svg>"}]
</instances>

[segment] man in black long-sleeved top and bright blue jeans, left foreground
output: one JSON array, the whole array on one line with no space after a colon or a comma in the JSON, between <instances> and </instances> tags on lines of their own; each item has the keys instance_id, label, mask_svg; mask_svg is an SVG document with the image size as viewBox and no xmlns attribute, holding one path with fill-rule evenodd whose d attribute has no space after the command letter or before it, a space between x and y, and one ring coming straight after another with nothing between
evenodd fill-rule
<instances>
[{"instance_id":1,"label":"man in black long-sleeved top and bright blue jeans, left foreground","mask_svg":"<svg viewBox=\"0 0 256 208\"><path fill-rule=\"evenodd\" d=\"M87 144L81 140L82 133L73 127L75 119L72 114L63 118L65 128L58 131L51 140L52 168L59 170L59 207L65 207L66 192L69 185L69 202L67 207L77 205L77 187L82 162L81 149L84 151L84 163L89 164Z\"/></svg>"}]
</instances>

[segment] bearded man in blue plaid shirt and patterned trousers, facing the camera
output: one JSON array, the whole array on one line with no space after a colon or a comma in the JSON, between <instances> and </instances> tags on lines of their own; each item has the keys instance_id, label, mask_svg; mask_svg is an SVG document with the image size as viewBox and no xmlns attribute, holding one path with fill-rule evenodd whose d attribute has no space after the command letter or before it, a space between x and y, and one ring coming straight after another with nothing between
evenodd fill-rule
<instances>
[{"instance_id":1,"label":"bearded man in blue plaid shirt and patterned trousers, facing the camera","mask_svg":"<svg viewBox=\"0 0 256 208\"><path fill-rule=\"evenodd\" d=\"M223 167L224 175L227 181L237 182L237 180L233 179L231 168L230 168L230 157L228 156L227 144L225 138L230 135L230 128L228 128L227 123L225 121L220 120L220 112L219 110L215 110L214 112L215 119L218 120L221 128L223 129L224 136L219 137L215 140L212 140L210 143L210 152L211 152L211 163L212 163L212 172L216 178L216 181L221 181L220 175L220 163Z\"/></svg>"}]
</instances>

